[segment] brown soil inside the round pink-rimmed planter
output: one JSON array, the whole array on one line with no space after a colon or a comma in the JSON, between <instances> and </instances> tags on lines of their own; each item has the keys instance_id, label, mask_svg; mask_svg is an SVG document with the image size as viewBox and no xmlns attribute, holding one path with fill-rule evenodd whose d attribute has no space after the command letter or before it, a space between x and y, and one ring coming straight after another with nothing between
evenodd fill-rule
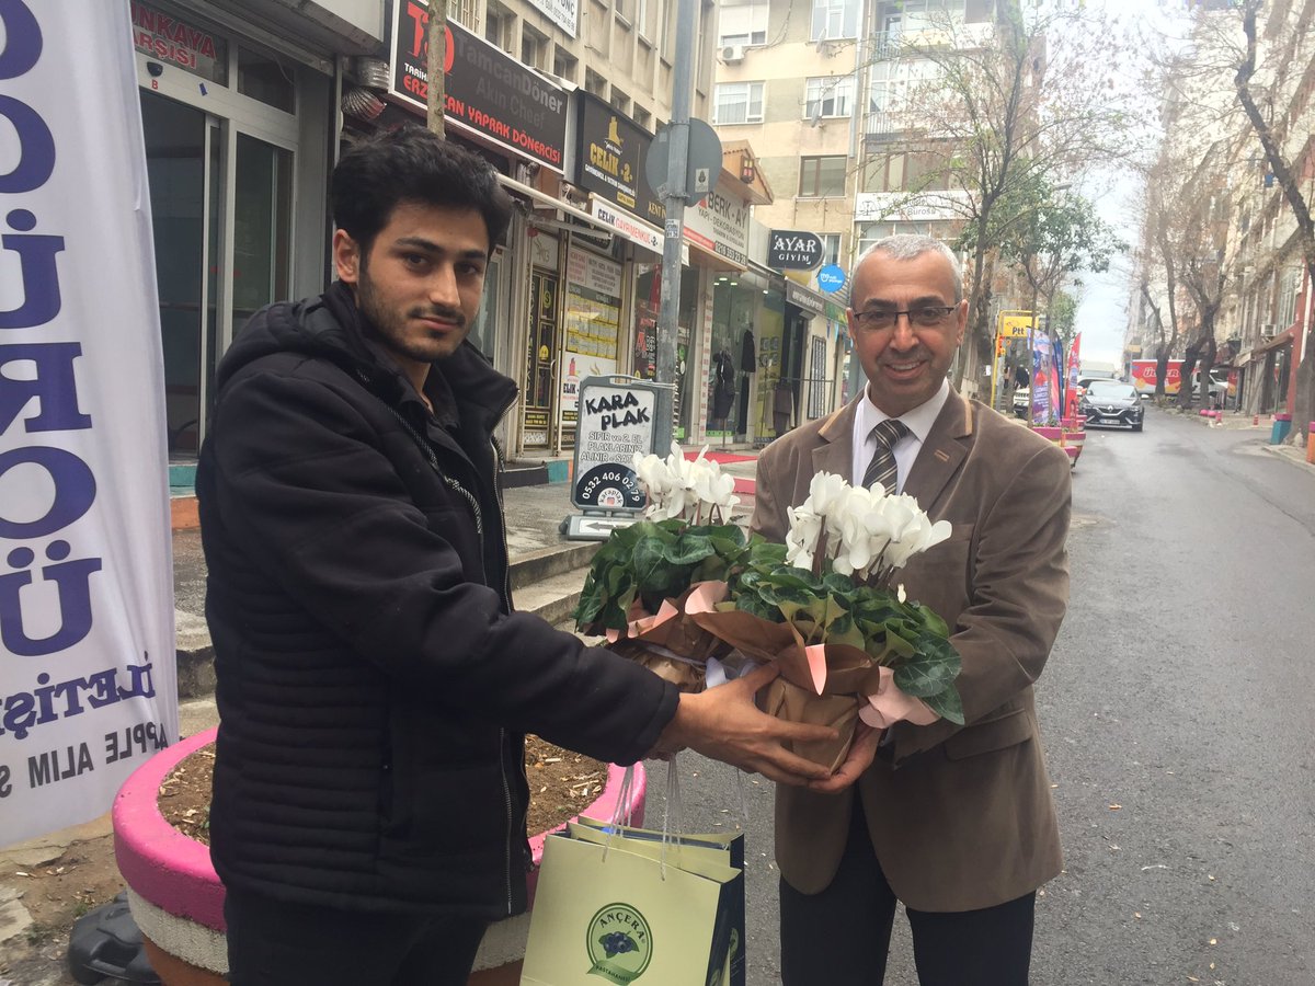
<instances>
[{"instance_id":1,"label":"brown soil inside the round pink-rimmed planter","mask_svg":"<svg viewBox=\"0 0 1315 986\"><path fill-rule=\"evenodd\" d=\"M160 814L176 830L210 844L210 776L214 747L203 747L180 763L160 785ZM602 793L608 768L597 760L539 739L525 740L525 774L530 781L531 835L575 818Z\"/></svg>"}]
</instances>

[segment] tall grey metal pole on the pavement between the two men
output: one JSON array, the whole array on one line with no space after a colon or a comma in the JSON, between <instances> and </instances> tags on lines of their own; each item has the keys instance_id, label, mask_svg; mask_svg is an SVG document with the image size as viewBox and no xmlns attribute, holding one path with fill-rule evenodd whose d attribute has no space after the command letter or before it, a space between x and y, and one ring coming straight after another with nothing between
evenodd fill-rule
<instances>
[{"instance_id":1,"label":"tall grey metal pole on the pavement between the two men","mask_svg":"<svg viewBox=\"0 0 1315 986\"><path fill-rule=\"evenodd\" d=\"M697 0L679 0L676 7L676 63L672 66L671 159L667 185L660 189L667 210L661 248L661 300L658 306L656 381L658 421L654 442L658 455L671 450L676 429L676 333L680 319L680 247L685 231L685 201L689 185L689 104L694 95L694 28Z\"/></svg>"}]
</instances>

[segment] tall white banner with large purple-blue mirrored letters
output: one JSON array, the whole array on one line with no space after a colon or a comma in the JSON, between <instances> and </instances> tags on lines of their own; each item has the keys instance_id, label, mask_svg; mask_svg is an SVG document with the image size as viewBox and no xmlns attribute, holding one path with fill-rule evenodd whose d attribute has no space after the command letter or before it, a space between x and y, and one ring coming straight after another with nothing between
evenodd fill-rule
<instances>
[{"instance_id":1,"label":"tall white banner with large purple-blue mirrored letters","mask_svg":"<svg viewBox=\"0 0 1315 986\"><path fill-rule=\"evenodd\" d=\"M0 845L178 739L164 387L128 0L0 0Z\"/></svg>"}]
</instances>

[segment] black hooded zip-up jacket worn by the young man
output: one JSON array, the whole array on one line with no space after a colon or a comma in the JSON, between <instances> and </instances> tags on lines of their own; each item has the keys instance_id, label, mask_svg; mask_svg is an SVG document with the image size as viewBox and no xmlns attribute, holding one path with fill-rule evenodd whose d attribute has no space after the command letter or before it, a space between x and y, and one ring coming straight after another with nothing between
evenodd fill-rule
<instances>
[{"instance_id":1,"label":"black hooded zip-up jacket worn by the young man","mask_svg":"<svg viewBox=\"0 0 1315 986\"><path fill-rule=\"evenodd\" d=\"M514 384L462 346L431 371L442 427L359 318L341 284L272 305L218 368L210 856L280 901L496 919L525 908L523 734L633 763L677 694L513 613L492 434Z\"/></svg>"}]
</instances>

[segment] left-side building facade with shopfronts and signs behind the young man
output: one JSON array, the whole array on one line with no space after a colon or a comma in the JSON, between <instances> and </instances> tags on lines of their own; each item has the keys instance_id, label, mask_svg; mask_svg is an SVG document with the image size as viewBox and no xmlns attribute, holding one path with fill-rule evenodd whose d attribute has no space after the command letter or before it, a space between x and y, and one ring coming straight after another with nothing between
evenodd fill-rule
<instances>
[{"instance_id":1,"label":"left-side building facade with shopfronts and signs behind the young man","mask_svg":"<svg viewBox=\"0 0 1315 986\"><path fill-rule=\"evenodd\" d=\"M580 381L654 373L665 217L644 167L671 116L675 9L676 0L448 4L448 139L489 160L517 202L472 339L522 389L501 429L510 455L550 460L562 467L555 479L565 464L554 460L573 447ZM697 9L714 22L711 5ZM331 279L326 193L341 149L423 124L429 13L419 0L134 0L132 11L170 454L185 461L205 435L216 364L245 321ZM690 116L702 120L715 49L710 29L694 35ZM757 439L771 425L752 401L757 333L780 319L750 270L751 212L769 200L740 143L686 209L684 440ZM727 375L722 394L714 380L726 351L729 406Z\"/></svg>"}]
</instances>

